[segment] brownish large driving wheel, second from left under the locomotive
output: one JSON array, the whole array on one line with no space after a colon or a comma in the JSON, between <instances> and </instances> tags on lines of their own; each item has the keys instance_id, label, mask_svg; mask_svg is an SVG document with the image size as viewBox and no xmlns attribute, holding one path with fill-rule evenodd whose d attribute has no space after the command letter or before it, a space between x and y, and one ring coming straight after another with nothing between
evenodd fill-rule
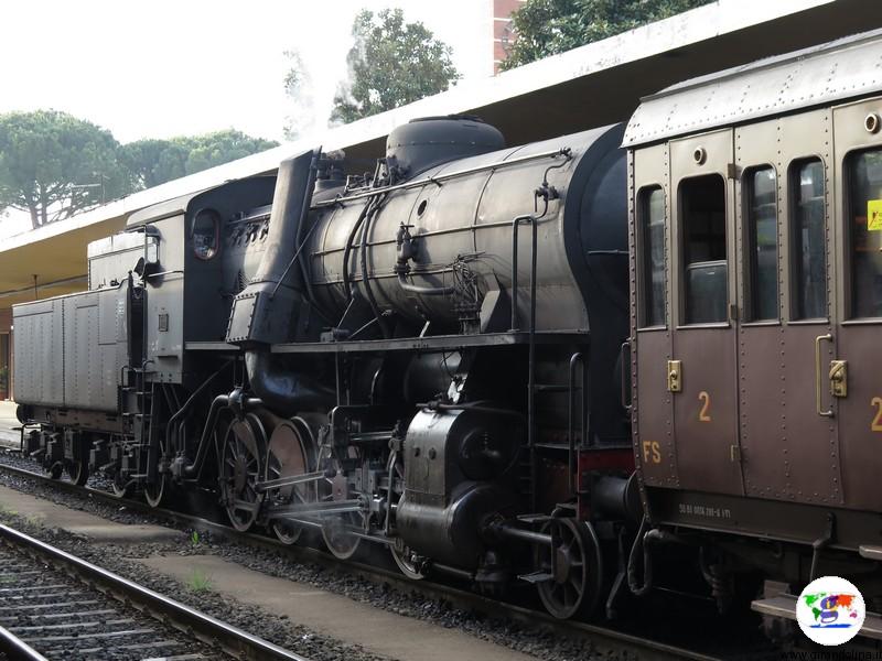
<instances>
[{"instance_id":1,"label":"brownish large driving wheel, second from left under the locomotive","mask_svg":"<svg viewBox=\"0 0 882 661\"><path fill-rule=\"evenodd\" d=\"M310 473L315 456L315 440L309 424L300 419L286 420L272 430L267 448L265 476L267 480L294 477ZM304 483L267 491L273 507L298 506L315 501L315 483ZM284 519L273 519L272 532L286 544L293 544L303 527Z\"/></svg>"}]
</instances>

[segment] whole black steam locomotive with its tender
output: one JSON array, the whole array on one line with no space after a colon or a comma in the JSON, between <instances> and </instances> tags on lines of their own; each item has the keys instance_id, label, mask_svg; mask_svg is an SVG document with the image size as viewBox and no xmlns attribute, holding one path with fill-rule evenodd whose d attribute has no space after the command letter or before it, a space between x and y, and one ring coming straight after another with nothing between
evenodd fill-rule
<instances>
[{"instance_id":1,"label":"whole black steam locomotive with its tender","mask_svg":"<svg viewBox=\"0 0 882 661\"><path fill-rule=\"evenodd\" d=\"M314 150L275 189L135 214L90 246L88 292L15 307L28 451L153 505L216 487L239 530L592 610L639 509L622 132L506 149L429 118L369 175Z\"/></svg>"}]
</instances>

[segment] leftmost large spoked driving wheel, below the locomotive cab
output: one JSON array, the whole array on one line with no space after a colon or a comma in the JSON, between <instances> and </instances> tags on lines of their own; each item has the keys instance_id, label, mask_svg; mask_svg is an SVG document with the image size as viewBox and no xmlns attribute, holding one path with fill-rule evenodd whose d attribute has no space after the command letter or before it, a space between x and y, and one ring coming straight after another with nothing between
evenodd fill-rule
<instances>
[{"instance_id":1,"label":"leftmost large spoked driving wheel, below the locomotive cab","mask_svg":"<svg viewBox=\"0 0 882 661\"><path fill-rule=\"evenodd\" d=\"M229 424L220 457L220 489L233 528L245 532L257 520L263 494L257 481L263 466L267 434L254 413Z\"/></svg>"}]
</instances>

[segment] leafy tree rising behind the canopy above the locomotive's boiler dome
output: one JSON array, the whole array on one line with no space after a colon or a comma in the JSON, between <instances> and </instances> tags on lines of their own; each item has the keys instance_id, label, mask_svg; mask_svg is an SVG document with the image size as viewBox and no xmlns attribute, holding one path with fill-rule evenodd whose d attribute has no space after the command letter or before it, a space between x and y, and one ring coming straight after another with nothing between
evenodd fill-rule
<instances>
[{"instance_id":1,"label":"leafy tree rising behind the canopy above the locomotive's boiler dome","mask_svg":"<svg viewBox=\"0 0 882 661\"><path fill-rule=\"evenodd\" d=\"M450 46L400 9L355 18L349 79L334 96L332 121L351 122L444 91L456 79Z\"/></svg>"}]
</instances>

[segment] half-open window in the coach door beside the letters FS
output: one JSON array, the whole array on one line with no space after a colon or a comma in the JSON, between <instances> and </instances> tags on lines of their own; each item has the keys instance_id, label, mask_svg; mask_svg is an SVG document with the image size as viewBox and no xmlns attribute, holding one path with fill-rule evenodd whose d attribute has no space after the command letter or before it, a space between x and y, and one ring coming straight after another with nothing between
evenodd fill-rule
<instances>
[{"instance_id":1,"label":"half-open window in the coach door beside the letters FS","mask_svg":"<svg viewBox=\"0 0 882 661\"><path fill-rule=\"evenodd\" d=\"M687 324L725 322L725 182L717 174L680 183L682 277Z\"/></svg>"}]
</instances>

